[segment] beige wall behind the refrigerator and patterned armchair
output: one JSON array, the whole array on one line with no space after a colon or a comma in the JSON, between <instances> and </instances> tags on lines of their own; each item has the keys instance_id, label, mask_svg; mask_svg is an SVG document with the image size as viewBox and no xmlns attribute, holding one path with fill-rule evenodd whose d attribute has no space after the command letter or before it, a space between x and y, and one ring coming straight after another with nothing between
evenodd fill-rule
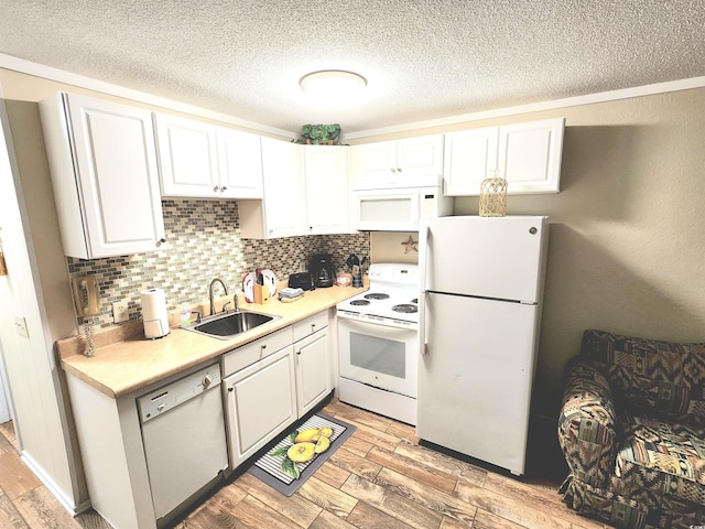
<instances>
[{"instance_id":1,"label":"beige wall behind the refrigerator and patterned armchair","mask_svg":"<svg viewBox=\"0 0 705 529\"><path fill-rule=\"evenodd\" d=\"M533 409L552 417L585 328L705 342L705 89L419 133L560 116L561 193L508 198L509 214L551 217ZM456 198L456 215L477 212Z\"/></svg>"}]
</instances>

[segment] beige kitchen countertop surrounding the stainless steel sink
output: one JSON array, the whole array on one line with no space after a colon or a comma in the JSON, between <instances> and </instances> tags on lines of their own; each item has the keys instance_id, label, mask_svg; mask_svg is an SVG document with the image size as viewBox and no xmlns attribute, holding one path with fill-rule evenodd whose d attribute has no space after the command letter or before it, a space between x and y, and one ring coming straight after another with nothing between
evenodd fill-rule
<instances>
[{"instance_id":1,"label":"beige kitchen countertop surrounding the stainless steel sink","mask_svg":"<svg viewBox=\"0 0 705 529\"><path fill-rule=\"evenodd\" d=\"M94 357L83 354L85 349L83 336L61 339L56 343L56 348L61 366L68 375L117 399L209 359L215 361L223 353L330 309L366 290L367 281L365 284L365 289L350 287L316 289L306 292L301 300L289 303L282 303L276 299L265 304L247 303L240 294L240 310L273 314L281 319L260 325L232 339L213 338L178 327L172 328L170 334L162 338L147 339L142 332L142 321L138 320L131 322L132 332L124 331L121 336L118 334L112 343L102 345L100 339L96 339ZM134 332L138 323L139 332Z\"/></svg>"}]
</instances>

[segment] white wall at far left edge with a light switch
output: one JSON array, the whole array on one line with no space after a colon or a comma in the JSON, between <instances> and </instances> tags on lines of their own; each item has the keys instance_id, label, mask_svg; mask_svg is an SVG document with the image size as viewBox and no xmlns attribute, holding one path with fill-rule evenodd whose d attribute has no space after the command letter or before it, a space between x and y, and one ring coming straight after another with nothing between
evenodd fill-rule
<instances>
[{"instance_id":1,"label":"white wall at far left edge with a light switch","mask_svg":"<svg viewBox=\"0 0 705 529\"><path fill-rule=\"evenodd\" d=\"M66 328L62 317L50 324L47 314L63 310L66 296L70 306L67 271L65 264L57 264L64 262L61 252L61 260L50 257L55 249L51 238L61 247L56 220L35 226L41 236L32 236L28 202L31 207L44 207L47 201L53 204L53 196L42 181L32 182L31 173L24 183L19 177L1 86L0 126L0 238L8 268L8 276L0 277L0 344L14 427L23 461L69 511L75 511L85 501L85 484L53 348L54 341L70 334L72 328ZM45 160L36 151L34 158ZM46 220L53 210L52 205L41 218ZM63 277L65 293L57 287L58 277ZM17 332L15 317L24 320L28 336Z\"/></svg>"}]
</instances>

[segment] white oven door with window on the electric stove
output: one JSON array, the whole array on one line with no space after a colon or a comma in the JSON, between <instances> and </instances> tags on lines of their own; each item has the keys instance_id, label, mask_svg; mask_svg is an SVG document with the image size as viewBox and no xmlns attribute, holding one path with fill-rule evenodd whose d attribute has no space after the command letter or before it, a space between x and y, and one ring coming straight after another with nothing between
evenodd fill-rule
<instances>
[{"instance_id":1,"label":"white oven door with window on the electric stove","mask_svg":"<svg viewBox=\"0 0 705 529\"><path fill-rule=\"evenodd\" d=\"M340 377L416 397L416 328L340 317Z\"/></svg>"}]
</instances>

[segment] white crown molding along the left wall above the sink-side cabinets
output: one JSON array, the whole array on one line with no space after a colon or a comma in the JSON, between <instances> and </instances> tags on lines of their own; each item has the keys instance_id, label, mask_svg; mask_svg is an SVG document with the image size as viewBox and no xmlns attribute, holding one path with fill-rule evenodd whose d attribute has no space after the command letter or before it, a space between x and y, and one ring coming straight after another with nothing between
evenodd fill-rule
<instances>
[{"instance_id":1,"label":"white crown molding along the left wall above the sink-side cabinets","mask_svg":"<svg viewBox=\"0 0 705 529\"><path fill-rule=\"evenodd\" d=\"M166 108L177 112L184 112L192 116L197 116L205 119L213 119L215 121L221 121L224 123L235 125L237 127L243 127L252 129L258 132L267 132L274 136L284 138L297 138L299 134L290 130L282 130L275 127L268 127L262 123L249 121L246 119L239 119L234 116L216 112L206 108L188 105L185 102L174 101L164 97L155 96L140 90L133 90L126 88L124 86L113 85L104 80L94 79L93 77L86 77L78 74L73 74L64 69L45 66L43 64L32 63L23 58L13 57L0 53L0 68L11 69L22 74L33 75L42 77L48 80L55 80L66 85L77 86L89 90L98 91L115 97L123 97L126 99L132 99L134 101L143 102L145 105L152 105L155 107Z\"/></svg>"}]
</instances>

